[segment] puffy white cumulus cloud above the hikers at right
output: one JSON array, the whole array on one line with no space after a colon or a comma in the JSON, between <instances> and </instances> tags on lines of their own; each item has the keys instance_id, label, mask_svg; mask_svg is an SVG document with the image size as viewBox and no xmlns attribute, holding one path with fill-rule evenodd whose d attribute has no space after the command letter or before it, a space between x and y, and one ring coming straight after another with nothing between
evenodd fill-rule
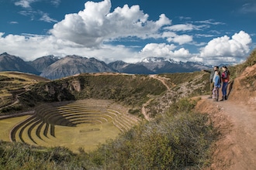
<instances>
[{"instance_id":1,"label":"puffy white cumulus cloud above the hikers at right","mask_svg":"<svg viewBox=\"0 0 256 170\"><path fill-rule=\"evenodd\" d=\"M229 36L222 36L212 39L201 49L200 56L206 59L218 59L221 57L223 63L230 63L240 59L249 53L251 37L244 31L235 33L230 39Z\"/></svg>"}]
</instances>

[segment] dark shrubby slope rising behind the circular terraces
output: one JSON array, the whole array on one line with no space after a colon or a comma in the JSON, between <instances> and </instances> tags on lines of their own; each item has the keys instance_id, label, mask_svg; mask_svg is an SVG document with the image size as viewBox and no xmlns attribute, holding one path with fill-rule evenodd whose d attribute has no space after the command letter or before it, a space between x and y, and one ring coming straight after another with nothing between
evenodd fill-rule
<instances>
[{"instance_id":1,"label":"dark shrubby slope rising behind the circular terraces","mask_svg":"<svg viewBox=\"0 0 256 170\"><path fill-rule=\"evenodd\" d=\"M80 99L114 100L130 107L140 107L150 95L164 93L166 87L143 75L84 74L46 83L37 83L22 94L23 103L53 102Z\"/></svg>"}]
</instances>

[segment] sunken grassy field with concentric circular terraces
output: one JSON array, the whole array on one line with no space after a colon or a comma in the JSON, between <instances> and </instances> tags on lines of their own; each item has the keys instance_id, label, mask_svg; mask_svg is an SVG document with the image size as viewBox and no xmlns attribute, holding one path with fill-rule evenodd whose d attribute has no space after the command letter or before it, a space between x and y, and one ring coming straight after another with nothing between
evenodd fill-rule
<instances>
[{"instance_id":1,"label":"sunken grassy field with concentric circular terraces","mask_svg":"<svg viewBox=\"0 0 256 170\"><path fill-rule=\"evenodd\" d=\"M31 115L0 119L0 140L92 151L140 121L111 100L40 104Z\"/></svg>"}]
</instances>

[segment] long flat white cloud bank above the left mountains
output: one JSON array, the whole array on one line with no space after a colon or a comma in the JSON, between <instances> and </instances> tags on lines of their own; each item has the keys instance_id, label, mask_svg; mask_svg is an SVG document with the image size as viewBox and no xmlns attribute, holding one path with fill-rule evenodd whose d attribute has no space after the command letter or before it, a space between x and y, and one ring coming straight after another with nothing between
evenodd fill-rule
<instances>
[{"instance_id":1,"label":"long flat white cloud bank above the left mountains","mask_svg":"<svg viewBox=\"0 0 256 170\"><path fill-rule=\"evenodd\" d=\"M0 32L0 53L7 52L27 61L47 55L64 57L72 54L95 57L107 63L117 59L129 63L140 61L140 56L125 46L102 45L100 49L90 49L55 36L4 35Z\"/></svg>"}]
</instances>

